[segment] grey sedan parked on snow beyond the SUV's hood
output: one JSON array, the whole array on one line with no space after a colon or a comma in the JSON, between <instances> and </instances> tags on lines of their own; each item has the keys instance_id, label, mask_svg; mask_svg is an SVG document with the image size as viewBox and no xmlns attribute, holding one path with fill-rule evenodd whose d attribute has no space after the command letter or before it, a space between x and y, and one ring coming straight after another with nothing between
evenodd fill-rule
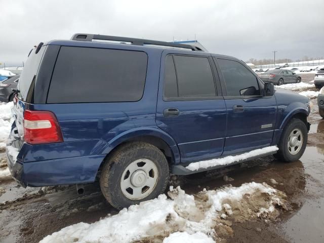
<instances>
[{"instance_id":1,"label":"grey sedan parked on snow beyond the SUV's hood","mask_svg":"<svg viewBox=\"0 0 324 243\"><path fill-rule=\"evenodd\" d=\"M260 74L259 77L264 82L269 82L274 85L300 83L302 80L301 76L296 75L291 70L283 70L283 69L268 70Z\"/></svg>"}]
</instances>

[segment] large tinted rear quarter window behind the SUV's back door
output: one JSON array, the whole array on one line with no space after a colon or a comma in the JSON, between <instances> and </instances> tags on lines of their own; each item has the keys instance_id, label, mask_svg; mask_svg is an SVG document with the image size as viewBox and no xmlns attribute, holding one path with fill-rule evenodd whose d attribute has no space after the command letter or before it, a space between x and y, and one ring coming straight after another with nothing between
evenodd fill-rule
<instances>
[{"instance_id":1,"label":"large tinted rear quarter window behind the SUV's back door","mask_svg":"<svg viewBox=\"0 0 324 243\"><path fill-rule=\"evenodd\" d=\"M130 102L143 96L144 52L61 47L48 103Z\"/></svg>"}]
</instances>

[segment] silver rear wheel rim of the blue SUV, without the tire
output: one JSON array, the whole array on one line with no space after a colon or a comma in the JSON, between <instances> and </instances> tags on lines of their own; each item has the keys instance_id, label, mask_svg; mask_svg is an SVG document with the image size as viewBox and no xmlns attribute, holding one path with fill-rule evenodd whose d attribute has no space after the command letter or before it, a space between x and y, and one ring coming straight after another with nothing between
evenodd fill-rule
<instances>
[{"instance_id":1,"label":"silver rear wheel rim of the blue SUV, without the tire","mask_svg":"<svg viewBox=\"0 0 324 243\"><path fill-rule=\"evenodd\" d=\"M141 158L133 161L124 171L120 180L123 194L132 200L148 196L155 188L158 170L153 161Z\"/></svg>"}]
</instances>

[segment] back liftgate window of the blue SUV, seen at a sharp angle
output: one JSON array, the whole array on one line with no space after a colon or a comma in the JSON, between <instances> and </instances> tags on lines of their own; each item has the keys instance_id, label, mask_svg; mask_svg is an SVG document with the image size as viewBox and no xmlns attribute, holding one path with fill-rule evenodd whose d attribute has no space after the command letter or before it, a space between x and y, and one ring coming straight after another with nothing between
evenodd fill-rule
<instances>
[{"instance_id":1,"label":"back liftgate window of the blue SUV, seen at a sharp angle","mask_svg":"<svg viewBox=\"0 0 324 243\"><path fill-rule=\"evenodd\" d=\"M37 74L39 64L41 63L44 51L46 46L43 46L41 50L37 54L35 54L35 49L30 52L30 55L24 65L24 69L19 78L18 90L18 97L21 100L26 101L26 97L32 83L32 80ZM33 88L33 87L32 87Z\"/></svg>"}]
</instances>

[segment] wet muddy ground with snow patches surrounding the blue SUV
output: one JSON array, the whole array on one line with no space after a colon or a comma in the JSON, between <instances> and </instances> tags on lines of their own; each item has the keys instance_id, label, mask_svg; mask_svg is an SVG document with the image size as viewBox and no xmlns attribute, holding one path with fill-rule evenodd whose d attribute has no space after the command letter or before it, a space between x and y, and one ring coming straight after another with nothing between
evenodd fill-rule
<instances>
[{"instance_id":1,"label":"wet muddy ground with snow patches surrounding the blue SUV","mask_svg":"<svg viewBox=\"0 0 324 243\"><path fill-rule=\"evenodd\" d=\"M1 143L11 104L1 104L0 242L323 242L324 120L314 74L301 76L303 83L280 87L311 97L314 105L300 160L268 156L172 176L167 194L121 211L107 203L98 183L81 196L74 186L25 189L8 180Z\"/></svg>"}]
</instances>

